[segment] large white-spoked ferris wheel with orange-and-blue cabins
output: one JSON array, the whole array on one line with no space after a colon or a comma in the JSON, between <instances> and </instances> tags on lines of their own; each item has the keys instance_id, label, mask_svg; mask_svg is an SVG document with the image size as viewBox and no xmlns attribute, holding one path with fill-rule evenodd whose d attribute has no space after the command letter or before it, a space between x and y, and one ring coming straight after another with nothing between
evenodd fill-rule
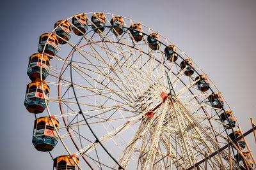
<instances>
[{"instance_id":1,"label":"large white-spoked ferris wheel with orange-and-blue cabins","mask_svg":"<svg viewBox=\"0 0 256 170\"><path fill-rule=\"evenodd\" d=\"M241 131L209 76L130 18L95 12L56 22L28 75L33 145L56 169L253 168L243 139L243 155L230 147L212 156Z\"/></svg>"}]
</instances>

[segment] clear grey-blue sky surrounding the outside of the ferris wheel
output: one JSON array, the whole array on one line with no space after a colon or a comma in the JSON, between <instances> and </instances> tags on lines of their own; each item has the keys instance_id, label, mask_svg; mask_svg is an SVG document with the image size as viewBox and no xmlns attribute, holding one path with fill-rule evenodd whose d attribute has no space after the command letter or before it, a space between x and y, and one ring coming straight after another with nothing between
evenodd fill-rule
<instances>
[{"instance_id":1,"label":"clear grey-blue sky surrounding the outside of the ferris wheel","mask_svg":"<svg viewBox=\"0 0 256 170\"><path fill-rule=\"evenodd\" d=\"M255 113L256 1L4 1L1 3L1 169L52 169L31 143L33 115L24 107L28 59L38 37L58 20L90 11L115 13L166 36L202 67L230 104L243 131ZM256 153L253 135L248 137Z\"/></svg>"}]
</instances>

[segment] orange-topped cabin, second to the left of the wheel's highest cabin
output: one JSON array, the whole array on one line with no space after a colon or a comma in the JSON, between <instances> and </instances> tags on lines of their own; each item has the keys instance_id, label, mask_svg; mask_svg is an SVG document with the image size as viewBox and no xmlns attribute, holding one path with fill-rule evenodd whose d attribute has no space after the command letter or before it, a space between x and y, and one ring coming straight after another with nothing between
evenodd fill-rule
<instances>
[{"instance_id":1,"label":"orange-topped cabin, second to the left of the wheel's highest cabin","mask_svg":"<svg viewBox=\"0 0 256 170\"><path fill-rule=\"evenodd\" d=\"M59 20L54 24L54 28L56 28L54 32L56 33L56 35L58 35L58 42L61 45L66 44L67 41L71 38L72 31L71 25L68 20Z\"/></svg>"}]
</instances>

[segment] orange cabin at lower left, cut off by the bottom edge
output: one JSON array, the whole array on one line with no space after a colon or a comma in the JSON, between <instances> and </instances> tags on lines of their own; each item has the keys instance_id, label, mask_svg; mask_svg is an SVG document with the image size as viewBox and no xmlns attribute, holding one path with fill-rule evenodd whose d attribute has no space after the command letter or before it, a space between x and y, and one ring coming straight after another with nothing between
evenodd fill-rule
<instances>
[{"instance_id":1,"label":"orange cabin at lower left, cut off by the bottom edge","mask_svg":"<svg viewBox=\"0 0 256 170\"><path fill-rule=\"evenodd\" d=\"M73 159L76 161L77 164L79 164L79 158L76 156L72 157L70 155L63 155L60 157L56 157L53 160L53 166L57 170L65 170L65 169L76 169L76 163Z\"/></svg>"}]
</instances>

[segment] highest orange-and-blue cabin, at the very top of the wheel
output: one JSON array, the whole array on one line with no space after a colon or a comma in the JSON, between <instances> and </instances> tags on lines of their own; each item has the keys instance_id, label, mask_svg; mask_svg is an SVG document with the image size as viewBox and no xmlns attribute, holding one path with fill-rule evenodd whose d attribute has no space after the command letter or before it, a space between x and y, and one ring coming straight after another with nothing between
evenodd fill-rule
<instances>
[{"instance_id":1,"label":"highest orange-and-blue cabin, at the very top of the wheel","mask_svg":"<svg viewBox=\"0 0 256 170\"><path fill-rule=\"evenodd\" d=\"M92 29L95 29L97 27L100 27L100 31L104 31L104 26L106 25L106 17L104 13L95 13L92 15ZM98 29L94 30L95 32L98 32Z\"/></svg>"}]
</instances>

